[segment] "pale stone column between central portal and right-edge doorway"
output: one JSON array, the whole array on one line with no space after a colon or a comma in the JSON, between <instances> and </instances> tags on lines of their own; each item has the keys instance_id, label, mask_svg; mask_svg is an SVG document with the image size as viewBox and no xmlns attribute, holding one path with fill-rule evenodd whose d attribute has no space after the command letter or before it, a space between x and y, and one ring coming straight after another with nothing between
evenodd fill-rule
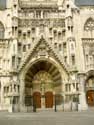
<instances>
[{"instance_id":1,"label":"pale stone column between central portal and right-edge doorway","mask_svg":"<svg viewBox=\"0 0 94 125\"><path fill-rule=\"evenodd\" d=\"M86 103L86 93L85 93L85 74L84 73L79 73L78 74L78 78L79 78L79 90L80 90L80 95L79 95L79 103L80 103L80 107L79 110L87 110L88 106Z\"/></svg>"}]
</instances>

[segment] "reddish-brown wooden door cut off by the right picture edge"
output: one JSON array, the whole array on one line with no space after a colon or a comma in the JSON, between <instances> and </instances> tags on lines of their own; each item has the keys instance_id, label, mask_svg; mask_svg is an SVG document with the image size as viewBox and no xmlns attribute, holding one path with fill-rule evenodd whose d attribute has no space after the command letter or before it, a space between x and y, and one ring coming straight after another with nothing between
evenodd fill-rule
<instances>
[{"instance_id":1,"label":"reddish-brown wooden door cut off by the right picture edge","mask_svg":"<svg viewBox=\"0 0 94 125\"><path fill-rule=\"evenodd\" d=\"M87 103L89 106L94 106L94 90L87 92Z\"/></svg>"}]
</instances>

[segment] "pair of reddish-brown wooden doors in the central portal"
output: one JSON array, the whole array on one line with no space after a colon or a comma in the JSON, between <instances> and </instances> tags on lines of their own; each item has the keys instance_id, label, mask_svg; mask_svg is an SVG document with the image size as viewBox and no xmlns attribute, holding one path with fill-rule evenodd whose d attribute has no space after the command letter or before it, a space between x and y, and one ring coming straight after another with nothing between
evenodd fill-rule
<instances>
[{"instance_id":1,"label":"pair of reddish-brown wooden doors in the central portal","mask_svg":"<svg viewBox=\"0 0 94 125\"><path fill-rule=\"evenodd\" d=\"M44 97L41 96L40 92L34 92L33 94L33 104L36 106L36 108L41 108L41 100L44 98L45 100L45 108L53 108L53 93L52 92L46 92Z\"/></svg>"}]
</instances>

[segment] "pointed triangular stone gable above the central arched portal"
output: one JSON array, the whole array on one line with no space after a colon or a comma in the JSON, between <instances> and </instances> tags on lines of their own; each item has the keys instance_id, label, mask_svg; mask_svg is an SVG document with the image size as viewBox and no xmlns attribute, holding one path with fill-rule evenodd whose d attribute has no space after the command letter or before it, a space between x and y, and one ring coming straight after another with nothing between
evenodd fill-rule
<instances>
[{"instance_id":1,"label":"pointed triangular stone gable above the central arched portal","mask_svg":"<svg viewBox=\"0 0 94 125\"><path fill-rule=\"evenodd\" d=\"M53 64L57 69L68 76L66 65L61 61L60 57L55 53L54 49L42 37L32 50L30 50L27 57L19 67L19 71L26 73L35 63L40 61L47 61Z\"/></svg>"}]
</instances>

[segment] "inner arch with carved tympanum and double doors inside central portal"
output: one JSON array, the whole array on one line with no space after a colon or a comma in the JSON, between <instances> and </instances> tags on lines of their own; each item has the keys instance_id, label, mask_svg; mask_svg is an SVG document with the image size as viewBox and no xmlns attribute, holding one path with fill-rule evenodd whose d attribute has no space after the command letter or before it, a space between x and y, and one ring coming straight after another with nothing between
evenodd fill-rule
<instances>
[{"instance_id":1,"label":"inner arch with carved tympanum and double doors inside central portal","mask_svg":"<svg viewBox=\"0 0 94 125\"><path fill-rule=\"evenodd\" d=\"M41 70L34 76L32 81L33 98L37 108L53 108L53 83L51 75L46 71Z\"/></svg>"}]
</instances>

